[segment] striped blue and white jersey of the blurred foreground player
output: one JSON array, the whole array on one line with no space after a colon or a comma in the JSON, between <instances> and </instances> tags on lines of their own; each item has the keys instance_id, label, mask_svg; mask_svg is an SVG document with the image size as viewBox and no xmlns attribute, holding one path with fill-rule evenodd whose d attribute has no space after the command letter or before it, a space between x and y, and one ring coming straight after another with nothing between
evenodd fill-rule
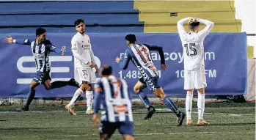
<instances>
[{"instance_id":1,"label":"striped blue and white jersey of the blurred foreground player","mask_svg":"<svg viewBox=\"0 0 256 140\"><path fill-rule=\"evenodd\" d=\"M125 80L100 78L95 84L95 114L101 110L102 121L133 122L131 97Z\"/></svg>"}]
</instances>

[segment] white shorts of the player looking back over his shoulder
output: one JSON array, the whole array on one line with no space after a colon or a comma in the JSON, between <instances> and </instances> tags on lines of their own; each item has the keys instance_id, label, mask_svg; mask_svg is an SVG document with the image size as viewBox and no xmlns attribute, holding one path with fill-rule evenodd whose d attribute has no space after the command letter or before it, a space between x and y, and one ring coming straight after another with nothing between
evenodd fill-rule
<instances>
[{"instance_id":1,"label":"white shorts of the player looking back over his shoulder","mask_svg":"<svg viewBox=\"0 0 256 140\"><path fill-rule=\"evenodd\" d=\"M79 81L88 81L89 83L96 83L95 72L90 67L76 67L79 76Z\"/></svg>"}]
</instances>

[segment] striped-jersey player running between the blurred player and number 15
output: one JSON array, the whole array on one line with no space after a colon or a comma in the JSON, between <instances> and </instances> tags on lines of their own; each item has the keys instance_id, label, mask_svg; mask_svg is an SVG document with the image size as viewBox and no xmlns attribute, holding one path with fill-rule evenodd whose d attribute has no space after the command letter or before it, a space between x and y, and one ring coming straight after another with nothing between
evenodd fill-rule
<instances>
[{"instance_id":1,"label":"striped-jersey player running between the blurred player and number 15","mask_svg":"<svg viewBox=\"0 0 256 140\"><path fill-rule=\"evenodd\" d=\"M136 37L134 34L128 34L125 37L128 48L125 50L125 58L117 57L116 62L122 70L126 70L128 68L129 61L131 60L134 65L139 69L142 78L134 86L134 92L139 95L142 102L145 103L147 107L147 116L145 119L149 119L155 113L155 108L150 105L150 101L142 92L142 89L145 89L147 86L153 93L159 97L161 101L167 106L167 108L171 109L173 113L175 113L178 117L178 126L182 125L183 119L185 118L185 114L175 106L175 104L170 100L164 93L164 90L158 84L158 70L153 63L153 60L150 56L150 51L158 51L161 56L161 68L163 70L167 70L167 65L164 62L164 53L161 47L157 45L147 45L147 44L137 44Z\"/></svg>"}]
</instances>

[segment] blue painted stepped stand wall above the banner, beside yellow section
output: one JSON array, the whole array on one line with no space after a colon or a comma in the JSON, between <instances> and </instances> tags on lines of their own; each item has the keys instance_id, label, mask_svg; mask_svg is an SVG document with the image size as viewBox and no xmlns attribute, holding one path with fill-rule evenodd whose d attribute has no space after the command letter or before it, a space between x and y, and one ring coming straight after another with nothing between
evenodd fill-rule
<instances>
[{"instance_id":1,"label":"blue painted stepped stand wall above the banner, beside yellow section","mask_svg":"<svg viewBox=\"0 0 256 140\"><path fill-rule=\"evenodd\" d=\"M86 32L143 32L134 1L1 1L1 33L33 33L43 27L50 33L76 32L81 18Z\"/></svg>"}]
</instances>

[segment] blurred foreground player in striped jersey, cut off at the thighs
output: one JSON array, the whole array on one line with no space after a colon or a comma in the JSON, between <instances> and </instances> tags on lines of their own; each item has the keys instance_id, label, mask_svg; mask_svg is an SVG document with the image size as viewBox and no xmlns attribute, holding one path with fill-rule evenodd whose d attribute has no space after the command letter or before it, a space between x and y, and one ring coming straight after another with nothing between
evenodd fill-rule
<instances>
[{"instance_id":1,"label":"blurred foreground player in striped jersey, cut off at the thighs","mask_svg":"<svg viewBox=\"0 0 256 140\"><path fill-rule=\"evenodd\" d=\"M117 79L108 65L100 69L100 81L95 84L95 104L93 122L100 130L100 139L110 139L118 129L123 139L134 139L134 122L132 114L132 95L123 79ZM99 125L99 110L101 121Z\"/></svg>"}]
</instances>

